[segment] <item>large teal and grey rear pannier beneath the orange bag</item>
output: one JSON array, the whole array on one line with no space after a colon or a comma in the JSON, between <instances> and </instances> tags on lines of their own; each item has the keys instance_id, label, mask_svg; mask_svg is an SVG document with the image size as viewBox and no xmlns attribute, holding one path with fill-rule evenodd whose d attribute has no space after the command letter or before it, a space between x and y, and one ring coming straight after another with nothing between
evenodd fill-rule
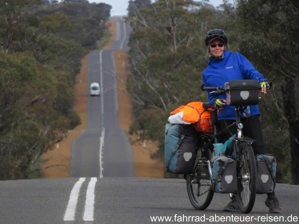
<instances>
[{"instance_id":1,"label":"large teal and grey rear pannier beneath the orange bag","mask_svg":"<svg viewBox=\"0 0 299 224\"><path fill-rule=\"evenodd\" d=\"M176 174L193 172L197 136L190 125L166 124L164 142L165 170Z\"/></svg>"}]
</instances>

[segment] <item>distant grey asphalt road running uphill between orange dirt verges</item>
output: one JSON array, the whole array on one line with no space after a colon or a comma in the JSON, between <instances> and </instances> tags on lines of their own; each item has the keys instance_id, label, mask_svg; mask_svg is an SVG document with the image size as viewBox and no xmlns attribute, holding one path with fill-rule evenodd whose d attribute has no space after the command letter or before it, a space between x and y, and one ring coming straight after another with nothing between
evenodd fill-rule
<instances>
[{"instance_id":1,"label":"distant grey asphalt road running uphill between orange dirt verges","mask_svg":"<svg viewBox=\"0 0 299 224\"><path fill-rule=\"evenodd\" d=\"M113 19L113 18L112 18ZM87 100L87 129L72 143L71 177L135 177L135 160L129 139L118 128L114 50L129 50L128 24L116 19L112 50L94 50L89 54L88 90L100 84L101 95Z\"/></svg>"}]
</instances>

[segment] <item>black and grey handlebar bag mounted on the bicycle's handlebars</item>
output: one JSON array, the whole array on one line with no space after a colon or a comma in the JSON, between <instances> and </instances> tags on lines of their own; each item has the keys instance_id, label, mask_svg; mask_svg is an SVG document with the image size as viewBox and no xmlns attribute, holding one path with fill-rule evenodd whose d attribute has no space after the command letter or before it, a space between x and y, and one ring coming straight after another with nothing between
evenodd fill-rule
<instances>
[{"instance_id":1,"label":"black and grey handlebar bag mounted on the bicycle's handlebars","mask_svg":"<svg viewBox=\"0 0 299 224\"><path fill-rule=\"evenodd\" d=\"M230 106L250 106L259 102L257 80L244 79L225 82L226 104Z\"/></svg>"}]
</instances>

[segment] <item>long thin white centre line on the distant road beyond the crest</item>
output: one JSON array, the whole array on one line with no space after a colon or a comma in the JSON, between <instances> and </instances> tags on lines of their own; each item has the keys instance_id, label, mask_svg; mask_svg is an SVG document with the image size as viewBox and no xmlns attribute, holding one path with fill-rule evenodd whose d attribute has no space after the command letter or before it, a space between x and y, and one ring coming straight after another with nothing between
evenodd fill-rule
<instances>
[{"instance_id":1,"label":"long thin white centre line on the distant road beyond the crest","mask_svg":"<svg viewBox=\"0 0 299 224\"><path fill-rule=\"evenodd\" d=\"M100 51L100 82L101 82L101 115L102 115L102 135L100 137L100 178L103 178L103 147L104 147L104 91L103 91L103 66L102 66L102 52Z\"/></svg>"}]
</instances>

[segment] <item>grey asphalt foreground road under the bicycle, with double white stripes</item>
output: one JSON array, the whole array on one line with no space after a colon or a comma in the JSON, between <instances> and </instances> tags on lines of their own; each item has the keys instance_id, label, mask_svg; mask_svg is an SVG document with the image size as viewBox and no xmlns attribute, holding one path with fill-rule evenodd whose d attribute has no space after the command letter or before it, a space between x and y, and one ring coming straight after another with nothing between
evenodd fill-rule
<instances>
[{"instance_id":1,"label":"grey asphalt foreground road under the bicycle, with double white stripes","mask_svg":"<svg viewBox=\"0 0 299 224\"><path fill-rule=\"evenodd\" d=\"M94 191L90 191L90 186ZM0 223L243 223L229 220L232 216L235 220L246 217L252 220L246 223L299 223L296 221L299 186L277 184L275 191L282 203L281 214L267 213L266 195L257 195L252 212L242 214L222 211L229 201L228 194L214 194L205 211L196 211L182 179L104 177L0 181ZM171 221L151 220L164 216ZM196 217L206 220L195 221ZM217 222L217 217L225 221ZM280 221L269 222L274 217Z\"/></svg>"}]
</instances>

